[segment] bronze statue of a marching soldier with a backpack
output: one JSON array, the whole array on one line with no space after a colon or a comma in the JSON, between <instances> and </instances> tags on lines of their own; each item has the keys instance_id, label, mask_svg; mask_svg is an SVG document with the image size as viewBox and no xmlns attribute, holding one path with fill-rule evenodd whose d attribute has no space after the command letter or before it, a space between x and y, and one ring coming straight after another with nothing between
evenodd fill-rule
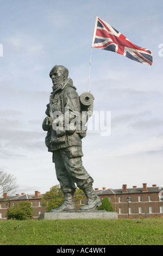
<instances>
[{"instance_id":1,"label":"bronze statue of a marching soldier with a backpack","mask_svg":"<svg viewBox=\"0 0 163 256\"><path fill-rule=\"evenodd\" d=\"M64 203L51 212L75 210L75 183L87 198L80 210L92 210L102 203L92 188L92 177L83 166L82 138L86 135L85 124L89 113L92 113L93 96L87 93L79 97L65 66L55 65L49 76L53 92L49 97L42 128L47 131L45 143L48 151L53 154L57 179L65 198Z\"/></svg>"}]
</instances>

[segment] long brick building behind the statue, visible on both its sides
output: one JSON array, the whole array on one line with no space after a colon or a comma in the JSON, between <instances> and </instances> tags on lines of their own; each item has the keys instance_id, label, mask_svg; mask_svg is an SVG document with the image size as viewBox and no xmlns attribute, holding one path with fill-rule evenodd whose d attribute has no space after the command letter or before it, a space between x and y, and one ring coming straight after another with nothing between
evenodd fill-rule
<instances>
[{"instance_id":1,"label":"long brick building behind the statue, visible on both its sides","mask_svg":"<svg viewBox=\"0 0 163 256\"><path fill-rule=\"evenodd\" d=\"M95 188L95 192L103 199L108 197L114 206L114 211L118 213L118 218L150 218L150 217L163 217L163 190L162 187L152 185L147 187L147 184L142 184L142 187L127 188L127 185L123 185L122 188L113 190L112 188L102 190ZM7 194L0 198L0 221L5 221L7 218L5 214L9 207L14 206L20 201L30 201L33 206L33 217L35 220L39 218L39 215L46 212L46 207L42 207L42 194L39 191L35 191L35 194L29 195L21 193L15 196L8 197ZM75 200L75 202L77 202ZM76 209L78 210L81 205L86 203L86 198L76 203Z\"/></svg>"}]
</instances>

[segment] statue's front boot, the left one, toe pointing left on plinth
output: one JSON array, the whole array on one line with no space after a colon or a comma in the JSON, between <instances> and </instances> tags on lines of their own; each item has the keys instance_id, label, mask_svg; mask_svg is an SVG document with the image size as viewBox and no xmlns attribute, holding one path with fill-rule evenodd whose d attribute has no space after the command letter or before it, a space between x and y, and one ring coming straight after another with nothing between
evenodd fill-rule
<instances>
[{"instance_id":1,"label":"statue's front boot, the left one, toe pointing left on plinth","mask_svg":"<svg viewBox=\"0 0 163 256\"><path fill-rule=\"evenodd\" d=\"M76 206L73 200L73 194L70 192L64 193L65 201L64 203L57 209L52 209L51 212L64 212L75 210Z\"/></svg>"}]
</instances>

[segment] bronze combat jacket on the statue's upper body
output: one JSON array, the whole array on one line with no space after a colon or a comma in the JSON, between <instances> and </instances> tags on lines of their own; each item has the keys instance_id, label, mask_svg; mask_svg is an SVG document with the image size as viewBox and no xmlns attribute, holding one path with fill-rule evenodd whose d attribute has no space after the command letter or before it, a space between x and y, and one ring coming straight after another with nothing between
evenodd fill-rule
<instances>
[{"instance_id":1,"label":"bronze combat jacket on the statue's upper body","mask_svg":"<svg viewBox=\"0 0 163 256\"><path fill-rule=\"evenodd\" d=\"M83 156L82 152L82 138L85 137L86 132L79 129L65 129L65 109L68 110L70 116L72 113L80 113L80 100L76 92L76 87L73 86L71 78L68 78L64 84L51 93L49 103L47 105L46 114L48 117L54 117L55 113L62 113L63 127L61 130L53 129L53 125L47 125L47 118L43 120L42 129L47 131L45 144L48 151L55 152L61 148L68 148L67 153L70 157ZM58 120L58 119L56 119ZM71 120L71 118L70 118ZM54 121L55 122L55 121ZM55 124L55 123L54 123Z\"/></svg>"}]
</instances>

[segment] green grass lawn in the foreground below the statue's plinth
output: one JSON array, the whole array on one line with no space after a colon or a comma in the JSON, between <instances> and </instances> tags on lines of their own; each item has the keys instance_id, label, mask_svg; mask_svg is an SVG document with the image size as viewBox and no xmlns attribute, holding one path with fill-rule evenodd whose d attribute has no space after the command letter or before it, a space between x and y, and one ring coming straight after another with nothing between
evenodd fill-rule
<instances>
[{"instance_id":1,"label":"green grass lawn in the foreground below the statue's plinth","mask_svg":"<svg viewBox=\"0 0 163 256\"><path fill-rule=\"evenodd\" d=\"M163 245L163 218L1 221L0 245Z\"/></svg>"}]
</instances>

